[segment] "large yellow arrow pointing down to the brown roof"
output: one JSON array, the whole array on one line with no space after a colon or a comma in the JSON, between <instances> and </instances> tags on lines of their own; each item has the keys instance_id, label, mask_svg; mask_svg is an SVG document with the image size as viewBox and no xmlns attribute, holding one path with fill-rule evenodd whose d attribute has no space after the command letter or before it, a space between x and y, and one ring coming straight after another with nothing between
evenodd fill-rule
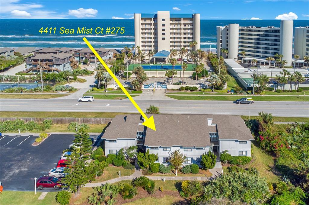
<instances>
[{"instance_id":1,"label":"large yellow arrow pointing down to the brown roof","mask_svg":"<svg viewBox=\"0 0 309 205\"><path fill-rule=\"evenodd\" d=\"M121 82L116 78L116 76L113 74L113 72L111 71L111 69L109 69L109 67L106 65L106 63L104 62L104 60L99 56L99 54L95 51L95 49L91 46L91 44L88 42L87 38L83 38L84 42L87 44L87 46L90 48L90 50L93 52L93 54L95 54L95 56L99 59L99 61L102 63L102 65L104 66L104 68L108 71L108 73L112 76L112 78L114 78L115 82L119 85L119 87L121 88L121 90L125 93L125 95L129 98L129 100L132 102L132 104L136 107L136 109L139 111L139 113L141 113L141 115L143 116L143 118L145 119L145 122L143 123L143 125L145 125L146 127L149 127L150 129L153 129L155 131L155 121L154 121L154 116L151 116L150 118L148 118L145 113L142 111L142 109L138 106L138 104L133 100L133 98L131 97L131 95L128 93L127 90L125 90L124 86L122 86Z\"/></svg>"}]
</instances>

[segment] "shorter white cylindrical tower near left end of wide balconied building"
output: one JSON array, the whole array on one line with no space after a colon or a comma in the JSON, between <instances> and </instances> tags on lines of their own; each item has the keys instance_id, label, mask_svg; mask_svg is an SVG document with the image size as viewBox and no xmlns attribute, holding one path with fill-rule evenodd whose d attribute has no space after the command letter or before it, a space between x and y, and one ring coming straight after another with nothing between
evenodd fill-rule
<instances>
[{"instance_id":1,"label":"shorter white cylindrical tower near left end of wide balconied building","mask_svg":"<svg viewBox=\"0 0 309 205\"><path fill-rule=\"evenodd\" d=\"M238 59L239 24L229 24L228 58Z\"/></svg>"}]
</instances>

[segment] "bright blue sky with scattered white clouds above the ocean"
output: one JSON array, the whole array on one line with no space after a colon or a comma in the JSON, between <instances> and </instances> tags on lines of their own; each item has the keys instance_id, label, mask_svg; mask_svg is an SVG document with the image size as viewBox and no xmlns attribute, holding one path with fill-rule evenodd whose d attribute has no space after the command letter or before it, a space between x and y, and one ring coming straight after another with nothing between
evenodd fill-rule
<instances>
[{"instance_id":1,"label":"bright blue sky with scattered white clouds above the ocean","mask_svg":"<svg viewBox=\"0 0 309 205\"><path fill-rule=\"evenodd\" d=\"M309 0L0 0L0 18L130 19L133 13L200 13L201 19L309 19Z\"/></svg>"}]
</instances>

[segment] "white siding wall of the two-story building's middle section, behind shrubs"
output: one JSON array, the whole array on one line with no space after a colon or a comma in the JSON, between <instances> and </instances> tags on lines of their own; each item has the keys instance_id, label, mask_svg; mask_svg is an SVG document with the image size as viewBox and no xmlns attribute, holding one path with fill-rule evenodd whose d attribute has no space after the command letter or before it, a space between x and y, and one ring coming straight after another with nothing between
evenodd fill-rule
<instances>
[{"instance_id":1,"label":"white siding wall of the two-story building's middle section, behind shrubs","mask_svg":"<svg viewBox=\"0 0 309 205\"><path fill-rule=\"evenodd\" d=\"M197 158L200 158L202 154L209 151L209 147L205 147L204 150L192 148L192 151L184 151L182 147L171 147L171 151L163 151L163 147L159 147L159 150L150 149L149 147L146 147L146 149L149 149L150 154L158 154L159 163L163 163L163 157L169 157L169 153L175 150L180 150L182 154L193 158L192 163L196 163Z\"/></svg>"}]
</instances>

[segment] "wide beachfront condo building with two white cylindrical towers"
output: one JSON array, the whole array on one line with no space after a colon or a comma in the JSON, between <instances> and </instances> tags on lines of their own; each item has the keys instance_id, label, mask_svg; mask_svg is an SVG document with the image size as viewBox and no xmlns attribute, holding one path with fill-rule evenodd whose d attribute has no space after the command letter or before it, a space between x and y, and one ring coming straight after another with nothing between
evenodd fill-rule
<instances>
[{"instance_id":1,"label":"wide beachfront condo building with two white cylindrical towers","mask_svg":"<svg viewBox=\"0 0 309 205\"><path fill-rule=\"evenodd\" d=\"M239 57L265 59L282 54L286 66L292 63L293 20L280 22L280 28L274 26L217 26L217 56L238 60ZM228 53L222 53L227 49ZM242 56L241 51L246 54Z\"/></svg>"}]
</instances>

